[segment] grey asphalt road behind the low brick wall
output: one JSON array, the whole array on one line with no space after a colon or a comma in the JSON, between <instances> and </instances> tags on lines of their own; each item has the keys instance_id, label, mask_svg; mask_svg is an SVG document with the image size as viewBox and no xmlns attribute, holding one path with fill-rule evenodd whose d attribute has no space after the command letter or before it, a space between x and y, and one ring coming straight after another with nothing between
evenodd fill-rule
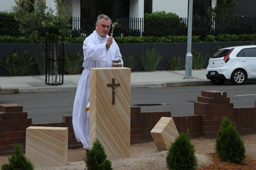
<instances>
[{"instance_id":1,"label":"grey asphalt road behind the low brick wall","mask_svg":"<svg viewBox=\"0 0 256 170\"><path fill-rule=\"evenodd\" d=\"M253 107L256 85L207 85L175 88L132 88L131 106L141 111L171 111L172 116L193 115L194 102L201 91L227 92L234 107ZM0 104L23 105L32 123L61 122L62 116L72 115L75 92L0 95Z\"/></svg>"}]
</instances>

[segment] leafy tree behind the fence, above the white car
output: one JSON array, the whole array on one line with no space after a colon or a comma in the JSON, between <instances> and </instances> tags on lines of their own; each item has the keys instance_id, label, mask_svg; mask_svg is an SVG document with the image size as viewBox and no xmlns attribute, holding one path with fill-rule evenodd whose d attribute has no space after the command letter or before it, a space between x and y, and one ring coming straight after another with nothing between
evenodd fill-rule
<instances>
[{"instance_id":1,"label":"leafy tree behind the fence, above the white car","mask_svg":"<svg viewBox=\"0 0 256 170\"><path fill-rule=\"evenodd\" d=\"M236 5L235 0L217 0L214 8L209 6L207 15L208 17L236 17Z\"/></svg>"}]
</instances>

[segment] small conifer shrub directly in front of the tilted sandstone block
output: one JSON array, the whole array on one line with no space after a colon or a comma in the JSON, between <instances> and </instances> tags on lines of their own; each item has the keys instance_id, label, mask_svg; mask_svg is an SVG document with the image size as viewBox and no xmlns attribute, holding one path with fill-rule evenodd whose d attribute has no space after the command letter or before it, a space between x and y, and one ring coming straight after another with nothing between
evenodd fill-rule
<instances>
[{"instance_id":1,"label":"small conifer shrub directly in front of the tilted sandstone block","mask_svg":"<svg viewBox=\"0 0 256 170\"><path fill-rule=\"evenodd\" d=\"M166 164L169 170L195 170L198 167L195 147L189 139L189 130L186 133L180 133L171 143Z\"/></svg>"}]
</instances>

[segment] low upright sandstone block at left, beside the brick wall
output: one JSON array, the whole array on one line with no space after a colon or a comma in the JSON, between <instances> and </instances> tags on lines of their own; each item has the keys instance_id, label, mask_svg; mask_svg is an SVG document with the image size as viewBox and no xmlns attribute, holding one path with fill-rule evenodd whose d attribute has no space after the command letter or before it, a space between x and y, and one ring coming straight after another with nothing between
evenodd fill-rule
<instances>
[{"instance_id":1,"label":"low upright sandstone block at left, beside the brick wall","mask_svg":"<svg viewBox=\"0 0 256 170\"><path fill-rule=\"evenodd\" d=\"M26 157L35 166L64 166L67 163L67 147L67 127L30 126L26 129Z\"/></svg>"}]
</instances>

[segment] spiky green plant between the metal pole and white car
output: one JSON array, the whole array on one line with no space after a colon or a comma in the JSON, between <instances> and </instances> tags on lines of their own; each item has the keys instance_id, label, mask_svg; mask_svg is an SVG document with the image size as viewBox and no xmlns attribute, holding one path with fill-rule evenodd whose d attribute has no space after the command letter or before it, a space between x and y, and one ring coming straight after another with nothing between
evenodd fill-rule
<instances>
[{"instance_id":1,"label":"spiky green plant between the metal pole and white car","mask_svg":"<svg viewBox=\"0 0 256 170\"><path fill-rule=\"evenodd\" d=\"M193 49L193 51L192 51L192 68L195 70L204 68L204 65L208 61L209 57L210 57L209 54L207 54L204 57L203 50L200 50L199 52L197 52L195 49Z\"/></svg>"}]
</instances>

